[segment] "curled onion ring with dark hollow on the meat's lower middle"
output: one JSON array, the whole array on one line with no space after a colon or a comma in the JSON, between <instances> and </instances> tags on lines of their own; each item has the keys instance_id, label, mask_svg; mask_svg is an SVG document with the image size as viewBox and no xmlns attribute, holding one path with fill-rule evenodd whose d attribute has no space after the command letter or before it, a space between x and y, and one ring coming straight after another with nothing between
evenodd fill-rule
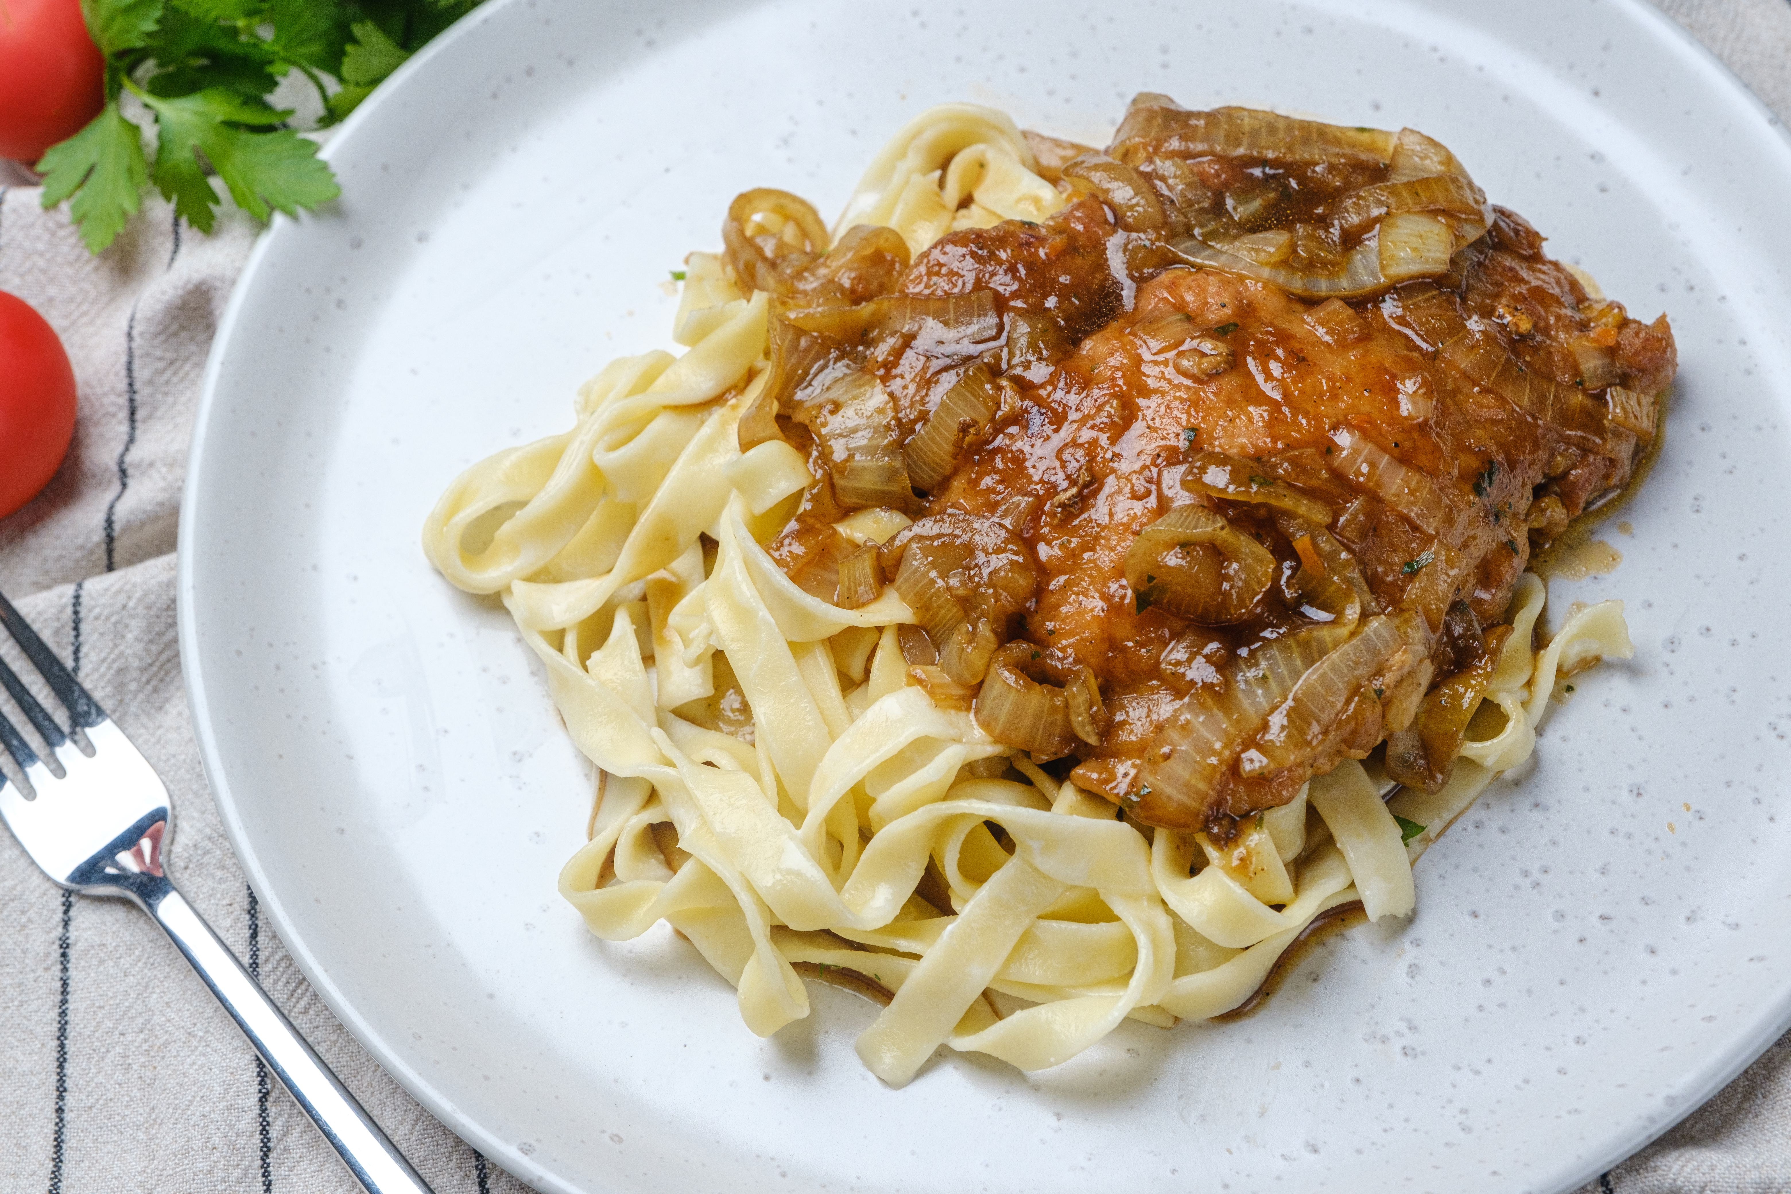
<instances>
[{"instance_id":1,"label":"curled onion ring with dark hollow on the meat's lower middle","mask_svg":"<svg viewBox=\"0 0 1791 1194\"><path fill-rule=\"evenodd\" d=\"M1125 578L1139 609L1207 627L1241 621L1275 580L1268 548L1205 507L1175 507L1152 523L1125 555Z\"/></svg>"}]
</instances>

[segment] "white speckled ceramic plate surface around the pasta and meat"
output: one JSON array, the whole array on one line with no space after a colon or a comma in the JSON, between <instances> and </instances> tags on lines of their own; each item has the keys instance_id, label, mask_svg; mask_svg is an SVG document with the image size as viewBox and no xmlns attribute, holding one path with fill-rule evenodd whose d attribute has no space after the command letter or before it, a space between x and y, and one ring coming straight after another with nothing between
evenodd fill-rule
<instances>
[{"instance_id":1,"label":"white speckled ceramic plate surface around the pasta and meat","mask_svg":"<svg viewBox=\"0 0 1791 1194\"><path fill-rule=\"evenodd\" d=\"M607 947L553 893L589 770L503 612L417 533L446 482L570 426L668 344L666 270L729 199L836 209L919 109L1103 143L1127 98L1417 125L1592 269L1682 371L1612 533L1633 664L1418 866L1418 913L1264 1011L1127 1026L1024 1076L856 1062L820 992L774 1040L668 933ZM544 1190L1564 1190L1791 1020L1780 816L1791 566L1791 152L1633 0L596 4L500 0L330 145L217 338L181 526L181 646L226 825L306 976L430 1110ZM1311 979L1311 981L1307 981Z\"/></svg>"}]
</instances>

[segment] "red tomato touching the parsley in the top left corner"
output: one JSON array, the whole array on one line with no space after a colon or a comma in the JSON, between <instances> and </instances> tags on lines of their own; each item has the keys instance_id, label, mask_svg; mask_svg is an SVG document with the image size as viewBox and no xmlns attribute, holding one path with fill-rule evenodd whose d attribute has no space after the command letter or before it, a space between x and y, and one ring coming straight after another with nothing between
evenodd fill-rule
<instances>
[{"instance_id":1,"label":"red tomato touching the parsley in the top left corner","mask_svg":"<svg viewBox=\"0 0 1791 1194\"><path fill-rule=\"evenodd\" d=\"M30 165L106 106L81 0L0 0L0 158Z\"/></svg>"}]
</instances>

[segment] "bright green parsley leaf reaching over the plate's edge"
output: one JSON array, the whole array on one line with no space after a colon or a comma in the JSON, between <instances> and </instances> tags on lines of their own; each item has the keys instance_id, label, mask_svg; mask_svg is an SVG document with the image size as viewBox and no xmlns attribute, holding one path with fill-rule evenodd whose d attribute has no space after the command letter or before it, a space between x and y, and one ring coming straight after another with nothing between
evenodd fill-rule
<instances>
[{"instance_id":1,"label":"bright green parsley leaf reaching over the plate's edge","mask_svg":"<svg viewBox=\"0 0 1791 1194\"><path fill-rule=\"evenodd\" d=\"M279 124L292 113L244 100L224 88L172 98L145 95L143 102L156 113L156 186L202 233L215 224L211 208L219 199L195 150L204 152L236 206L256 220L267 220L269 208L297 215L299 208L315 208L342 193L330 166L317 161L317 145L297 132L235 127Z\"/></svg>"}]
</instances>

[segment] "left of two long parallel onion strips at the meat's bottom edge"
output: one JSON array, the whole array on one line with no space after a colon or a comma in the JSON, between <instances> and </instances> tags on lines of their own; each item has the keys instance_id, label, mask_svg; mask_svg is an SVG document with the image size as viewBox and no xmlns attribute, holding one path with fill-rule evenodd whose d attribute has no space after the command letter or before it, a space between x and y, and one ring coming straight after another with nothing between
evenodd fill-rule
<instances>
[{"instance_id":1,"label":"left of two long parallel onion strips at the meat's bottom edge","mask_svg":"<svg viewBox=\"0 0 1791 1194\"><path fill-rule=\"evenodd\" d=\"M1245 741L1345 637L1316 627L1270 639L1230 664L1223 687L1189 693L1144 748L1132 813L1146 825L1205 829L1225 811L1225 780Z\"/></svg>"}]
</instances>

